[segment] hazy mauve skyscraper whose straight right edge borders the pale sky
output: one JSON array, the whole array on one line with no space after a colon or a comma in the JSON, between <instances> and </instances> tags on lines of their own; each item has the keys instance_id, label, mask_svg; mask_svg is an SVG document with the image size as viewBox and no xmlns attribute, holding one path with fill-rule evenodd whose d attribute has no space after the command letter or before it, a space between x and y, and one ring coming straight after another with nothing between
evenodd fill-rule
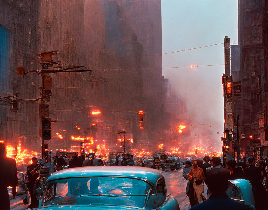
<instances>
[{"instance_id":1,"label":"hazy mauve skyscraper whose straight right edge borders the pale sky","mask_svg":"<svg viewBox=\"0 0 268 210\"><path fill-rule=\"evenodd\" d=\"M162 76L161 1L116 0L119 21L129 25L143 47L141 76L143 80L143 109L146 111L144 130L139 143L154 147L165 140L165 125L169 116L164 113L165 80ZM110 18L112 20L112 18ZM114 22L114 21L112 21ZM113 25L109 22L107 27ZM114 33L113 36L116 36ZM119 46L118 46L119 47ZM162 128L162 129L159 129Z\"/></svg>"}]
</instances>

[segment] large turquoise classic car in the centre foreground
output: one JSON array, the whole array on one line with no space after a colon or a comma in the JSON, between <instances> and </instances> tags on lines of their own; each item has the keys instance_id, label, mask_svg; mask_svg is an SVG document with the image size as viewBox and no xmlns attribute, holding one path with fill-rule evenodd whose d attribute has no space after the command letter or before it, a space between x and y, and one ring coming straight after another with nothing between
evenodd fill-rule
<instances>
[{"instance_id":1,"label":"large turquoise classic car in the centre foreground","mask_svg":"<svg viewBox=\"0 0 268 210\"><path fill-rule=\"evenodd\" d=\"M48 177L39 209L179 210L179 204L167 195L165 179L156 169L91 166Z\"/></svg>"}]
</instances>

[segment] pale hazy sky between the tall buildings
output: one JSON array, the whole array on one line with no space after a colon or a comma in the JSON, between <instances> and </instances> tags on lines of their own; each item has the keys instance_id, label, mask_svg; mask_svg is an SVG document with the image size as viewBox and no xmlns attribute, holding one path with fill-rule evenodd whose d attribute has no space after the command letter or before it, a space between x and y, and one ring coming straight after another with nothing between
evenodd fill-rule
<instances>
[{"instance_id":1,"label":"pale hazy sky between the tall buildings","mask_svg":"<svg viewBox=\"0 0 268 210\"><path fill-rule=\"evenodd\" d=\"M162 53L237 41L237 0L162 0ZM223 44L162 56L163 68L224 64ZM220 142L223 132L224 66L163 69L187 101L189 123L220 123L208 129ZM178 123L179 125L179 123ZM176 127L176 126L175 126ZM192 127L192 134L200 126Z\"/></svg>"}]
</instances>

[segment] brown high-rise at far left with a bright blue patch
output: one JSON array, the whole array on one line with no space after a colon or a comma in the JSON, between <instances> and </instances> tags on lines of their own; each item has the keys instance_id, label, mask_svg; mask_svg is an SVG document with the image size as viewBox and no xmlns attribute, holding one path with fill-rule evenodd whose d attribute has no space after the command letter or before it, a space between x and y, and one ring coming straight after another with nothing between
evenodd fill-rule
<instances>
[{"instance_id":1,"label":"brown high-rise at far left with a bright blue patch","mask_svg":"<svg viewBox=\"0 0 268 210\"><path fill-rule=\"evenodd\" d=\"M19 98L39 97L36 74L17 76L16 67L38 68L40 41L40 1L1 1L0 4L0 95L18 93ZM18 103L18 113L11 112L10 101L0 101L0 140L16 145L27 144L34 150L40 147L37 103Z\"/></svg>"}]
</instances>

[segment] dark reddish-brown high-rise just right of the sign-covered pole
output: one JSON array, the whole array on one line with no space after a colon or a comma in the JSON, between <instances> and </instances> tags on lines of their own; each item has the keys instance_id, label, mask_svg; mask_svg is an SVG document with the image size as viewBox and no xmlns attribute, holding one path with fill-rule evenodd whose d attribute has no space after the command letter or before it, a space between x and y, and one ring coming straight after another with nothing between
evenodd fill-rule
<instances>
[{"instance_id":1,"label":"dark reddish-brown high-rise just right of the sign-covered pole","mask_svg":"<svg viewBox=\"0 0 268 210\"><path fill-rule=\"evenodd\" d=\"M238 42L241 47L242 151L253 151L264 142L264 50L262 37L264 1L238 1Z\"/></svg>"}]
</instances>

